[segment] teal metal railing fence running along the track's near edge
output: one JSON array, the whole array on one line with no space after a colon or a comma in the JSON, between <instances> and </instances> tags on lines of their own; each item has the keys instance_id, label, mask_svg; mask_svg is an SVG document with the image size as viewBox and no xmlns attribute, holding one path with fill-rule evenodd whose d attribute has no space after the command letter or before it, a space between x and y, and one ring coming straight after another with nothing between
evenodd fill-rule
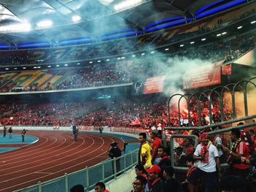
<instances>
[{"instance_id":1,"label":"teal metal railing fence running along the track's near edge","mask_svg":"<svg viewBox=\"0 0 256 192\"><path fill-rule=\"evenodd\" d=\"M86 191L94 188L95 183L104 183L115 179L138 164L138 150L133 150L118 158L108 159L102 163L86 167L78 172L65 173L53 180L38 182L36 185L22 188L14 192L69 192L74 185L83 185Z\"/></svg>"}]
</instances>

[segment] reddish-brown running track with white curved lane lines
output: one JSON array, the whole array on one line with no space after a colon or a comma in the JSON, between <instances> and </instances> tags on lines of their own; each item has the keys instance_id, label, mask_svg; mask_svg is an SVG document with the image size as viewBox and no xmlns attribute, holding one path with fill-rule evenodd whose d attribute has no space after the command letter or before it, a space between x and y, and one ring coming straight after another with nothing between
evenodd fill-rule
<instances>
[{"instance_id":1,"label":"reddish-brown running track with white curved lane lines","mask_svg":"<svg viewBox=\"0 0 256 192\"><path fill-rule=\"evenodd\" d=\"M14 132L15 134L15 132ZM75 172L108 158L107 135L80 133L74 142L69 131L29 131L39 141L0 154L0 191L8 192Z\"/></svg>"}]
</instances>

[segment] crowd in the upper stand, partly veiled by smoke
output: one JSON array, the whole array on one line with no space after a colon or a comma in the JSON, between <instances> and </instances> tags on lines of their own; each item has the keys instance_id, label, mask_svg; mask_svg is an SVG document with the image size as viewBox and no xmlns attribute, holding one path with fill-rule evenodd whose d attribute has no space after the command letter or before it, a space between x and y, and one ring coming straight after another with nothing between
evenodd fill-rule
<instances>
[{"instance_id":1,"label":"crowd in the upper stand, partly veiled by smoke","mask_svg":"<svg viewBox=\"0 0 256 192\"><path fill-rule=\"evenodd\" d=\"M211 62L221 61L222 59L230 61L255 47L255 33L255 31L250 31L238 37L230 37L218 42L211 42L201 45L197 49L193 46L187 47L184 50L179 50L176 53L170 53L168 55L155 53L155 56L152 55L154 56L153 60L152 57L147 58L145 56L142 59L130 58L129 61L123 61L121 64L107 65L99 63L83 69L62 70L58 73L53 73L52 70L49 73L53 75L65 74L65 72L69 74L64 80L58 82L57 85L48 82L47 85L40 86L38 82L35 82L34 84L29 84L27 87L23 87L22 91L98 87L133 82L135 79L146 80L147 77L165 74L167 67L170 66L171 62L175 61L170 58L199 58L203 61ZM159 65L159 62L162 64ZM17 86L19 87L20 85L15 82L15 77L12 77L12 79L1 82L0 91L7 92Z\"/></svg>"}]
</instances>

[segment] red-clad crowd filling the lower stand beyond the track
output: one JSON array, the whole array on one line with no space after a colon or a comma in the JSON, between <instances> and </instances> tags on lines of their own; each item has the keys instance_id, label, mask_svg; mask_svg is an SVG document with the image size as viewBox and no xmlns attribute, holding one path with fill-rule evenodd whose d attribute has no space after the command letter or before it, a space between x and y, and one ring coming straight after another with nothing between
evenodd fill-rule
<instances>
[{"instance_id":1,"label":"red-clad crowd filling the lower stand beyond the track","mask_svg":"<svg viewBox=\"0 0 256 192\"><path fill-rule=\"evenodd\" d=\"M139 96L132 99L106 99L86 102L56 102L42 104L2 104L4 115L0 119L2 125L15 126L110 126L110 127L157 127L183 126L190 122L193 126L209 123L209 107L207 102L201 103L201 114L197 104L192 103L190 109L170 105L170 122L165 97ZM16 107L13 107L16 106ZM15 110L13 110L15 109ZM220 121L219 101L212 102L214 123ZM225 107L225 120L230 120L232 112ZM181 117L181 118L179 118Z\"/></svg>"}]
</instances>

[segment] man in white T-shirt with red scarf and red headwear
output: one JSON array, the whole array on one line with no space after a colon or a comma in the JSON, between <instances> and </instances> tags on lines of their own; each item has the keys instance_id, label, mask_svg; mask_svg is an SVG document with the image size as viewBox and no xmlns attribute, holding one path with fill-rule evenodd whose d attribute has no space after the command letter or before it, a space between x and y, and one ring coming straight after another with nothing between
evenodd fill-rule
<instances>
[{"instance_id":1,"label":"man in white T-shirt with red scarf and red headwear","mask_svg":"<svg viewBox=\"0 0 256 192\"><path fill-rule=\"evenodd\" d=\"M221 172L219 153L217 147L211 145L208 134L200 135L201 143L197 145L194 153L195 161L199 161L197 169L188 178L189 191L195 191L197 180L202 177L206 184L206 191L217 192L218 172Z\"/></svg>"}]
</instances>

